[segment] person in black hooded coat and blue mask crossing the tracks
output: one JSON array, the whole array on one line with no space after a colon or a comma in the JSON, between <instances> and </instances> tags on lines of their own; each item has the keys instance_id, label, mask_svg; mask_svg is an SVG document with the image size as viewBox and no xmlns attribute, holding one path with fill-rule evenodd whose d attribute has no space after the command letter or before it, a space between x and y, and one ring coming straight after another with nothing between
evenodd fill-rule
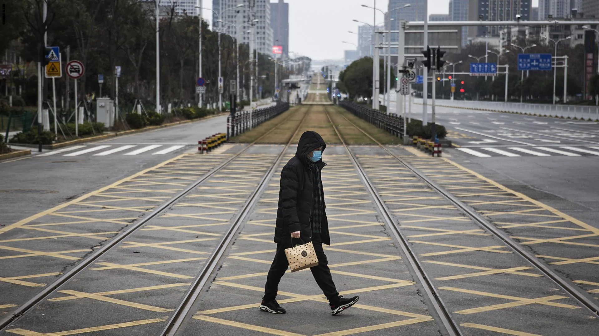
<instances>
[{"instance_id":1,"label":"person in black hooded coat and blue mask crossing the tracks","mask_svg":"<svg viewBox=\"0 0 599 336\"><path fill-rule=\"evenodd\" d=\"M261 310L285 314L285 309L280 307L275 299L281 277L289 267L285 249L294 246L294 240L295 243L313 243L318 265L310 270L329 300L333 315L353 306L359 299L340 297L322 249L322 243L331 245L325 213L325 194L320 179L320 170L326 166L321 158L325 148L326 143L318 133L304 132L299 139L295 156L281 172L277 227L274 229L277 252L268 271Z\"/></svg>"}]
</instances>

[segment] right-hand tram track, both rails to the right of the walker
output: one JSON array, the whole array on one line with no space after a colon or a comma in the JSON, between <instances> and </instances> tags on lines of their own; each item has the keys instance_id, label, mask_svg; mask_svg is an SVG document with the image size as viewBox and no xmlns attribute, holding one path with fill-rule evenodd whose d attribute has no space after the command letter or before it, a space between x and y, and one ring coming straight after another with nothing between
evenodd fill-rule
<instances>
[{"instance_id":1,"label":"right-hand tram track, both rails to the right of the walker","mask_svg":"<svg viewBox=\"0 0 599 336\"><path fill-rule=\"evenodd\" d=\"M325 109L325 111L326 111L326 109ZM326 111L326 113L328 115L328 111ZM595 317L597 316L598 311L599 311L599 306L597 305L597 303L594 302L594 300L591 297L589 297L588 294L586 294L585 292L581 292L577 288L576 285L574 285L573 283L571 283L570 280L564 279L564 277L562 277L561 275L559 275L558 273L556 273L555 270L553 270L552 268L550 268L549 266L547 266L546 264L544 264L544 262L540 261L539 258L537 258L533 254L531 254L530 252L528 252L524 248L522 248L522 246L518 242L515 242L513 239L511 239L509 236L507 236L506 233L504 233L499 228L495 227L493 224L491 224L489 221L487 221L485 218L483 218L482 216L480 216L479 213L476 212L476 210L473 210L473 209L471 209L471 207L469 207L466 204L462 203L460 200L458 200L458 198L456 198L455 196L453 196L448 191L444 190L444 188L440 187L440 185L438 185L437 182L432 181L431 178L428 178L428 176L426 176L423 173L419 172L418 169L416 169L415 167L413 167L410 163L407 163L399 155L395 154L394 152L392 152L391 150L389 150L388 148L386 148L385 146L383 146L380 142L378 142L372 136L368 135L368 133L364 132L364 130L360 129L358 126L356 126L355 124L353 124L346 117L344 117L341 114L339 114L339 115L341 117L343 117L344 120L346 120L348 123L350 123L353 127L355 127L356 129L358 129L360 132L364 133L364 135L368 136L368 138L370 138L371 140L373 140L373 142L377 143L377 145L381 149L383 149L383 151L385 151L392 158L394 158L395 160L397 160L402 166L404 166L410 173L412 173L413 175L415 175L420 181L424 182L424 184L426 184L429 188L431 188L432 190L434 190L436 193L440 194L440 196L442 196L445 200L449 201L460 212L463 212L476 225L478 225L479 227L482 227L483 230L486 230L489 233L491 233L493 237L495 237L496 239L498 239L501 242L503 242L513 252L516 252L519 256L521 256L522 258L526 259L533 266L534 269L538 270L541 274L543 274L543 276L545 276L548 279L550 279L562 291L564 291L565 293L567 293L568 295L570 295L574 300L576 300L582 307L585 307L586 309L588 309L588 311L590 311L593 314L593 316L595 316ZM330 116L328 116L328 117L329 117L329 120L331 120ZM331 123L332 123L332 121L331 121ZM343 142L343 145L345 146L346 150L349 152L350 157L352 157L352 161L354 161L354 163L356 164L356 167L359 170L360 175L364 179L365 184L367 184L368 189L373 191L374 200L377 203L377 206L379 206L379 209L381 209L383 215L385 216L386 221L389 222L389 224L390 224L389 227L391 227L395 232L397 232L397 237L401 237L401 233L400 233L397 225L395 225L394 221L392 221L392 216L388 217L388 215L391 215L391 213L389 213L388 209L384 210L385 209L385 204L382 201L382 199L376 194L376 188L372 188L371 189L371 187L373 187L373 185L370 182L368 182L368 177L365 175L364 169L362 169L362 167L359 165L359 162L356 159L355 154L353 154L352 151L350 151L349 146L347 146L344 143L343 138L341 138L341 135L340 135L340 133L338 133L337 128L334 126L334 124L333 124L333 127L335 128L335 132L337 132L340 140ZM381 205L382 205L382 207L381 207ZM404 246L404 243L402 242L402 240L400 240L400 239L398 239L398 240L400 241L400 244L402 246ZM404 240L404 242L407 242L407 240ZM410 250L410 248L408 248L408 249ZM404 251L404 252L406 252L406 251ZM414 253L411 252L411 251L409 251L408 253L406 253L406 255L408 255L408 256L409 255L414 255ZM420 266L418 266L418 265L416 267L420 268ZM425 276L425 274L423 274L423 276ZM429 281L428 277L425 277L425 279L427 279L426 282L430 283L430 288L431 288L431 292L427 292L427 294L429 294L429 297L430 297L430 295L432 295L434 298L437 298L438 294L437 294L436 291L434 291L434 286L432 286L432 282ZM427 285L427 287L428 287L428 285ZM436 308L437 307L435 307L435 309ZM449 311L449 310L447 310L447 308L441 307L441 309L444 312L448 312ZM441 312L440 312L440 315L441 315ZM448 316L449 317L449 314L448 313L447 314L443 313L443 315L441 315L441 316ZM450 317L449 317L449 320L447 320L447 321L444 320L443 324L446 325L446 322L450 323L450 325L447 325L447 326L449 326L450 328L453 328L453 326L455 326L456 329L457 329L457 331L459 332L459 328L457 327L457 325L456 325L455 322L453 322L453 321L450 320Z\"/></svg>"}]
</instances>

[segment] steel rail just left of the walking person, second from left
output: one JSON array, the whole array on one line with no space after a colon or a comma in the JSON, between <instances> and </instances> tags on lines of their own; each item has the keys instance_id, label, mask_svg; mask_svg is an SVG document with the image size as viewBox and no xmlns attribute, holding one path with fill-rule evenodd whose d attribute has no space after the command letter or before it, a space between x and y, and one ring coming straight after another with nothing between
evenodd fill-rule
<instances>
[{"instance_id":1,"label":"steel rail just left of the walking person, second from left","mask_svg":"<svg viewBox=\"0 0 599 336\"><path fill-rule=\"evenodd\" d=\"M308 111L309 110L310 108L308 108ZM171 315L170 319L167 322L167 325L162 330L162 336L174 336L179 331L183 331L184 325L186 325L187 321L192 318L193 306L196 300L198 300L198 297L201 294L202 289L208 282L208 279L210 279L210 274L212 274L214 268L216 268L217 265L219 265L220 258L222 258L223 254L226 251L226 248L229 246L229 244L231 244L232 240L235 238L235 234L237 234L237 231L240 230L241 225L245 222L247 215L250 214L250 210L259 200L259 196L261 196L264 189L268 187L268 181L270 181L270 179L272 178L276 167L280 165L280 162L285 156L285 153L287 152L289 145L291 145L291 141L295 138L300 127L304 123L305 117L308 115L308 111L305 112L304 117L299 122L297 129L295 129L295 132L293 133L291 138L289 138L289 141L287 142L283 150L280 152L279 156L277 156L277 159L268 169L267 173L265 173L264 177L262 177L262 180L259 182L258 187L253 191L252 195L248 198L246 204L244 204L237 216L235 216L234 220L231 221L231 227L229 227L229 230L226 231L219 244L216 246L216 248L214 248L214 251L206 259L204 267L202 267L202 270L199 272L198 276L196 276L196 278L193 280L192 285L183 297L183 300L179 304L179 307L177 307L177 309Z\"/></svg>"}]
</instances>

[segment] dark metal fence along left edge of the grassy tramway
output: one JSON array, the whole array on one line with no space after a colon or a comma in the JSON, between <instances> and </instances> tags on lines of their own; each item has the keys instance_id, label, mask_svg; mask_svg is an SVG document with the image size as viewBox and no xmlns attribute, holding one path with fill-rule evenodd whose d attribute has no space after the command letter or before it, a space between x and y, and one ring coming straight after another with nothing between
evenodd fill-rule
<instances>
[{"instance_id":1,"label":"dark metal fence along left edge of the grassy tramway","mask_svg":"<svg viewBox=\"0 0 599 336\"><path fill-rule=\"evenodd\" d=\"M289 103L278 103L256 111L238 112L226 118L226 139L238 136L265 121L271 120L289 109Z\"/></svg>"}]
</instances>

